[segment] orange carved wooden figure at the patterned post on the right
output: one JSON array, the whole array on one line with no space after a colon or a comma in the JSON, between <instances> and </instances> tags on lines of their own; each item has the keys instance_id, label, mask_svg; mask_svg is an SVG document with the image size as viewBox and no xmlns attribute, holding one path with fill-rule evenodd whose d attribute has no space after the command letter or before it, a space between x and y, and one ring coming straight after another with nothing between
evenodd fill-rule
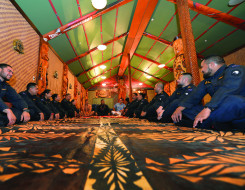
<instances>
[{"instance_id":1,"label":"orange carved wooden figure at the patterned post on the right","mask_svg":"<svg viewBox=\"0 0 245 190\"><path fill-rule=\"evenodd\" d=\"M175 53L175 60L173 64L174 78L175 80L178 80L181 73L186 72L184 48L183 48L183 42L181 38L176 37L176 40L173 43L173 48Z\"/></svg>"}]
</instances>

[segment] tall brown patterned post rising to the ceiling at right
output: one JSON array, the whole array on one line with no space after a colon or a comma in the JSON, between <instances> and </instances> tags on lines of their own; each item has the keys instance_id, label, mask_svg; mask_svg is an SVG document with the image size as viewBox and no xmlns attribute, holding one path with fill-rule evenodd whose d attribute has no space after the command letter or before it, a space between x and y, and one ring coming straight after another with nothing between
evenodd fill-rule
<instances>
[{"instance_id":1,"label":"tall brown patterned post rising to the ceiling at right","mask_svg":"<svg viewBox=\"0 0 245 190\"><path fill-rule=\"evenodd\" d=\"M197 63L196 47L192 33L191 18L187 0L176 0L181 36L183 39L186 71L193 76L193 84L200 82L199 67Z\"/></svg>"}]
</instances>

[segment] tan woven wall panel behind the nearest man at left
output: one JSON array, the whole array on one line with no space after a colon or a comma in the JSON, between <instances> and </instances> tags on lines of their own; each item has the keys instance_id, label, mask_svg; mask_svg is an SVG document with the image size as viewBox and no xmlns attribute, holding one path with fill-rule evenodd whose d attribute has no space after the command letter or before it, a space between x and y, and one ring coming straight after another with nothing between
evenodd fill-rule
<instances>
[{"instance_id":1,"label":"tan woven wall panel behind the nearest man at left","mask_svg":"<svg viewBox=\"0 0 245 190\"><path fill-rule=\"evenodd\" d=\"M19 39L24 54L13 50L13 40ZM36 82L40 38L29 23L8 1L0 1L0 63L7 63L14 69L10 80L17 92L26 89L29 82Z\"/></svg>"}]
</instances>

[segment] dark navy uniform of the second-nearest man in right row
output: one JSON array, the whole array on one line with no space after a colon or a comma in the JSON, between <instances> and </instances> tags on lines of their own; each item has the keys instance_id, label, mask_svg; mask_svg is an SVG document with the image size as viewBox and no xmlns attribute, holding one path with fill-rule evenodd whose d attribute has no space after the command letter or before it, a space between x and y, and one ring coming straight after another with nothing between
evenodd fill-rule
<instances>
[{"instance_id":1,"label":"dark navy uniform of the second-nearest man in right row","mask_svg":"<svg viewBox=\"0 0 245 190\"><path fill-rule=\"evenodd\" d=\"M162 105L165 111L163 112L161 122L173 122L171 118L172 114L179 107L180 103L184 101L185 98L189 96L195 88L196 87L193 84L177 88L169 97L168 101Z\"/></svg>"}]
</instances>

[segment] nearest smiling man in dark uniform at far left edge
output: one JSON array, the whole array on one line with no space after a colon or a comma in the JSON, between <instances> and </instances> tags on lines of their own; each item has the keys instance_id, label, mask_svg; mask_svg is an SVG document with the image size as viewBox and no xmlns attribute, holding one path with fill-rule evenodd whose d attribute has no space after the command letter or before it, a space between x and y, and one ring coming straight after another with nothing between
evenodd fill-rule
<instances>
[{"instance_id":1,"label":"nearest smiling man in dark uniform at far left edge","mask_svg":"<svg viewBox=\"0 0 245 190\"><path fill-rule=\"evenodd\" d=\"M6 82L13 76L13 68L0 64L0 126L13 125L30 120L28 106L19 94ZM13 105L9 108L6 102Z\"/></svg>"}]
</instances>

